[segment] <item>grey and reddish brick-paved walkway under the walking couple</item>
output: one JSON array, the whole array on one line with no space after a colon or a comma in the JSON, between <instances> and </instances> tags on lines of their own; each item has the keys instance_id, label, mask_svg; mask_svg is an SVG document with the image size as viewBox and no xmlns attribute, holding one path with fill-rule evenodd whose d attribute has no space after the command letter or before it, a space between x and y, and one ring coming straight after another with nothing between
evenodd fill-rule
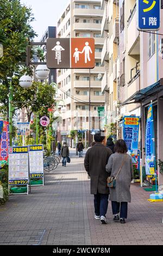
<instances>
[{"instance_id":1,"label":"grey and reddish brick-paved walkway under the walking couple","mask_svg":"<svg viewBox=\"0 0 163 256\"><path fill-rule=\"evenodd\" d=\"M110 202L108 225L94 219L83 161L74 156L45 174L45 186L0 206L0 245L163 245L163 204L149 203L151 192L135 185L126 224L112 222Z\"/></svg>"}]
</instances>

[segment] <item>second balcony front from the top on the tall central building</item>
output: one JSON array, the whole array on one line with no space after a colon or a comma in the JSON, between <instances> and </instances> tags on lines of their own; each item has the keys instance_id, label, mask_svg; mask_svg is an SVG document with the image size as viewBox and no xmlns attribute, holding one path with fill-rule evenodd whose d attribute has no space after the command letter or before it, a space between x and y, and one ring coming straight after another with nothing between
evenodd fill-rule
<instances>
[{"instance_id":1,"label":"second balcony front from the top on the tall central building","mask_svg":"<svg viewBox=\"0 0 163 256\"><path fill-rule=\"evenodd\" d=\"M100 31L101 32L101 24L96 23L74 23L73 25L74 31Z\"/></svg>"}]
</instances>

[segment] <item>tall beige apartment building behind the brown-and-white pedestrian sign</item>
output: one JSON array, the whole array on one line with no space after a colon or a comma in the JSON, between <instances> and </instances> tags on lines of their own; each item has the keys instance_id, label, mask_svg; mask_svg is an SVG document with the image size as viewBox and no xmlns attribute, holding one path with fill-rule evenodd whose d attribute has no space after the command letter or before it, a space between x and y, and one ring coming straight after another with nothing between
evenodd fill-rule
<instances>
[{"instance_id":1,"label":"tall beige apartment building behind the brown-and-white pedestrian sign","mask_svg":"<svg viewBox=\"0 0 163 256\"><path fill-rule=\"evenodd\" d=\"M104 38L101 38L102 18L103 10L101 10L99 0L71 0L58 20L58 38L95 38L94 69L90 72L89 69L59 69L57 71L57 83L66 106L66 113L61 113L62 122L58 126L59 139L67 140L71 130L86 131L89 129L89 80L91 129L99 128L97 107L104 106L105 102L101 91L101 79L99 79L104 75L104 68L101 66L104 44Z\"/></svg>"}]
</instances>

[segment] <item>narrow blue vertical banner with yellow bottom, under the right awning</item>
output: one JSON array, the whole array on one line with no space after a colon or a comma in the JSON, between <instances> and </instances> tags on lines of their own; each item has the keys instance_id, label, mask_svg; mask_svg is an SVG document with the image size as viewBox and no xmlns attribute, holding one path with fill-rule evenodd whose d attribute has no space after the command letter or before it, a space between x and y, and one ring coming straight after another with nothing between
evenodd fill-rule
<instances>
[{"instance_id":1,"label":"narrow blue vertical banner with yellow bottom, under the right awning","mask_svg":"<svg viewBox=\"0 0 163 256\"><path fill-rule=\"evenodd\" d=\"M155 147L154 147L154 127L153 127L153 106L148 107L146 124L146 175L154 175Z\"/></svg>"}]
</instances>

